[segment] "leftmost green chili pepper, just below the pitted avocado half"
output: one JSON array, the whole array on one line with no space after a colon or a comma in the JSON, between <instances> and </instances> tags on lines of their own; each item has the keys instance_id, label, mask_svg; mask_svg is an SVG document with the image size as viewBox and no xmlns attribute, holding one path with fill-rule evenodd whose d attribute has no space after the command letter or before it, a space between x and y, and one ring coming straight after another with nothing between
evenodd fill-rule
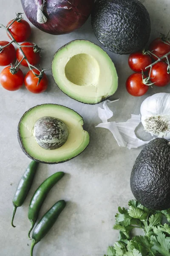
<instances>
[{"instance_id":1,"label":"leftmost green chili pepper, just below the pitted avocado half","mask_svg":"<svg viewBox=\"0 0 170 256\"><path fill-rule=\"evenodd\" d=\"M36 161L31 161L31 163L28 165L26 169L26 172L21 177L20 182L17 186L17 190L15 192L15 195L12 201L14 205L14 211L13 211L12 220L11 220L12 227L16 227L13 224L15 212L17 210L17 207L20 207L23 204L23 202L26 199L26 196L28 195L28 192L34 180L35 173L37 171L38 164L39 163Z\"/></svg>"}]
</instances>

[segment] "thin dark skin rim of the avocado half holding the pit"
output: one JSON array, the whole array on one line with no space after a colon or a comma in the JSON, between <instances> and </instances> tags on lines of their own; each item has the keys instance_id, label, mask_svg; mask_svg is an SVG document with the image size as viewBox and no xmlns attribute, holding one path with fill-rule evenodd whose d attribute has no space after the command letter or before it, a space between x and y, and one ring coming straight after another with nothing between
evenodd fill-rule
<instances>
[{"instance_id":1,"label":"thin dark skin rim of the avocado half holding the pit","mask_svg":"<svg viewBox=\"0 0 170 256\"><path fill-rule=\"evenodd\" d=\"M46 104L42 104L42 105L46 105ZM52 104L52 103L51 103L51 105L57 105L57 104ZM36 107L38 107L38 106L40 106L40 105L37 105L37 106L35 106L35 107L33 107L33 108L36 108ZM61 105L59 105L59 106L61 106ZM32 108L30 108L28 111L30 111L31 109L32 109ZM70 108L70 109L73 110L72 108ZM27 113L28 111L26 111L26 112L23 114L23 116L26 115L26 113ZM73 111L74 111L74 110L73 110ZM76 111L74 111L74 112L76 112ZM78 114L79 114L79 113L78 113ZM68 162L69 160L74 159L75 157L78 157L82 152L84 152L85 149L88 147L88 145L89 145L89 143L90 143L90 139L89 139L89 143L88 143L88 145L86 146L86 148L85 148L83 151L81 151L79 154L77 154L77 156L71 157L71 158L69 158L69 159L67 159L67 160L60 161L60 162L44 162L44 161L40 161L40 160L38 160L38 159L36 159L36 158L34 158L34 157L31 157L30 154L26 151L26 149L25 149L24 146L23 146L22 137L20 136L20 123L22 122L23 116L21 117L21 119L20 119L20 121L19 121L19 124L18 124L18 126L17 126L17 139L18 139L18 143L20 144L20 148L22 149L22 151L24 152L24 154L26 154L26 156L29 157L31 160L34 160L34 161L36 161L36 162L38 162L38 163L57 164L57 163L65 163L65 162ZM79 116L80 116L80 114L79 114ZM81 117L82 117L82 116L81 116ZM82 118L82 120L83 120L83 123L84 123L84 119L83 119L83 118ZM89 134L89 132L88 132L88 134ZM90 135L90 134L89 134L89 135Z\"/></svg>"}]
</instances>

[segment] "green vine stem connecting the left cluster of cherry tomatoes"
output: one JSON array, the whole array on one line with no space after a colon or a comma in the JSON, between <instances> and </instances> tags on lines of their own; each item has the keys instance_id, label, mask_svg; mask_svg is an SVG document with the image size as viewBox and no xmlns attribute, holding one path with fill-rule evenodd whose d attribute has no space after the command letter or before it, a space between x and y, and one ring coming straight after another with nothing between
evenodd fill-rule
<instances>
[{"instance_id":1,"label":"green vine stem connecting the left cluster of cherry tomatoes","mask_svg":"<svg viewBox=\"0 0 170 256\"><path fill-rule=\"evenodd\" d=\"M16 62L16 64L15 64L14 66L11 66L11 70L12 70L12 68L13 68L13 69L16 69L16 72L17 72L20 63L25 59L26 62L27 62L27 64L28 64L29 69L30 69L30 70L34 73L34 75L39 79L39 82L38 82L38 84L39 84L39 83L40 83L40 80L41 80L42 77L43 77L44 70L39 70L37 67L31 65L31 64L29 63L28 59L26 58L26 55L25 55L25 53L23 52L23 49L22 49L22 48L23 48L23 47L34 47L34 51L35 51L35 52L40 52L41 48L39 48L36 44L34 44L34 45L32 45L32 46L27 46L27 45L23 45L23 46L22 46L22 45L18 44L18 42L15 40L15 38L13 37L13 35L11 34L11 32L9 31L9 27L10 27L15 21L20 22L22 19L23 19L22 13L18 13L18 14L17 14L17 17L16 17L14 20L12 20L12 22L10 23L10 25L9 25L8 27L4 26L3 24L0 24L0 28L5 29L6 32L8 33L8 35L9 35L9 36L11 37L11 39L12 39L9 44L7 44L7 45L5 45L5 46L0 46L0 52L2 52L2 50L3 50L5 47L7 47L8 45L10 45L10 44L12 44L12 43L16 44L17 47L18 47L18 49L20 49L20 51L22 52L23 58L22 58L22 60L21 60L19 63ZM33 69L38 70L38 71L40 72L40 74L37 75L37 74L33 71ZM11 72L11 73L12 73L12 72ZM15 73L15 71L13 71L13 74L14 74L14 73Z\"/></svg>"}]
</instances>

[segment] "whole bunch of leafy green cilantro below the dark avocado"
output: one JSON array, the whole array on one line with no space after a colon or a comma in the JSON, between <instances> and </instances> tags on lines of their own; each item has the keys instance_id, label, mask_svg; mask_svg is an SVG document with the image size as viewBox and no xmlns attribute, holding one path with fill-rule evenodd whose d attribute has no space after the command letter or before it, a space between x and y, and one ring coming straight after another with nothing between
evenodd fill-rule
<instances>
[{"instance_id":1,"label":"whole bunch of leafy green cilantro below the dark avocado","mask_svg":"<svg viewBox=\"0 0 170 256\"><path fill-rule=\"evenodd\" d=\"M128 205L129 209L118 208L113 229L119 230L119 241L104 256L170 256L170 225L165 223L170 222L170 209L150 210L136 200ZM135 236L136 228L144 236Z\"/></svg>"}]
</instances>

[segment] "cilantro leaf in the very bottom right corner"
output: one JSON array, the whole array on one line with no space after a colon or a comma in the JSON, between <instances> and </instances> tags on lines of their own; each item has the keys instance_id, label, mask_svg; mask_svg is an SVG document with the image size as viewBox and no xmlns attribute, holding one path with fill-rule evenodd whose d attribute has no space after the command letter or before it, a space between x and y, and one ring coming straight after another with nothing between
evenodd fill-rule
<instances>
[{"instance_id":1,"label":"cilantro leaf in the very bottom right corner","mask_svg":"<svg viewBox=\"0 0 170 256\"><path fill-rule=\"evenodd\" d=\"M166 237L164 233L160 232L157 236L151 236L150 238L154 244L152 250L162 256L170 256L170 237Z\"/></svg>"}]
</instances>

